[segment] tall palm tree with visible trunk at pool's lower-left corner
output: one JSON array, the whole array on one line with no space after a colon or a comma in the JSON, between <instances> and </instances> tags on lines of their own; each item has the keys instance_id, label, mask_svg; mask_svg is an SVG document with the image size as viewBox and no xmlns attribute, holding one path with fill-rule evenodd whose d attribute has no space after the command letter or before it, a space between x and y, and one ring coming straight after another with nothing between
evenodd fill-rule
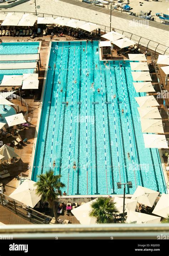
<instances>
[{"instance_id":1,"label":"tall palm tree with visible trunk at pool's lower-left corner","mask_svg":"<svg viewBox=\"0 0 169 256\"><path fill-rule=\"evenodd\" d=\"M36 182L36 194L41 196L44 202L48 202L49 207L53 209L57 223L55 200L62 195L60 188L65 187L65 184L60 182L61 175L54 175L52 170L38 175L37 178L39 180Z\"/></svg>"}]
</instances>

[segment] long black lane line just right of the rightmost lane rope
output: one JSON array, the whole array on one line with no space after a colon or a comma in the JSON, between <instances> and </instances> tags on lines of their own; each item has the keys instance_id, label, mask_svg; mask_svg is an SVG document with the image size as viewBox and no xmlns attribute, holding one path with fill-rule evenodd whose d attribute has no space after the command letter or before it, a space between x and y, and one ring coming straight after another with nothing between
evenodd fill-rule
<instances>
[{"instance_id":1,"label":"long black lane line just right of the rightmost lane rope","mask_svg":"<svg viewBox=\"0 0 169 256\"><path fill-rule=\"evenodd\" d=\"M126 80L127 94L128 94L128 100L129 100L129 108L130 108L130 113L131 113L131 118L132 118L132 126L133 126L133 132L134 132L135 147L136 147L136 151L137 151L137 159L138 159L138 164L139 164L140 179L141 179L141 182L142 182L142 187L144 187L142 170L141 170L141 167L140 167L140 157L139 157L139 153L138 153L137 138L136 138L136 134L135 134L135 127L134 127L134 121L133 121L130 94L129 94L129 90L128 90L127 74L126 74L126 68L125 67L124 67L124 75L125 75L125 80Z\"/></svg>"}]
</instances>

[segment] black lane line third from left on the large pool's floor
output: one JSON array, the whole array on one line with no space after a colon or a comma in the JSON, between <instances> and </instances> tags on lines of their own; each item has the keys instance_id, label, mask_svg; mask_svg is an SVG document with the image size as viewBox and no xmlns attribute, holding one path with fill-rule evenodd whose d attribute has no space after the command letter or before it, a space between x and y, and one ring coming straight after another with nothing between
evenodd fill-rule
<instances>
[{"instance_id":1,"label":"black lane line third from left on the large pool's floor","mask_svg":"<svg viewBox=\"0 0 169 256\"><path fill-rule=\"evenodd\" d=\"M80 47L80 80L79 80L79 102L81 102L81 75L82 75L82 47ZM80 195L79 193L79 175L80 175L80 113L81 104L79 104L79 116L78 116L78 152L77 152L77 193L75 195Z\"/></svg>"}]
</instances>

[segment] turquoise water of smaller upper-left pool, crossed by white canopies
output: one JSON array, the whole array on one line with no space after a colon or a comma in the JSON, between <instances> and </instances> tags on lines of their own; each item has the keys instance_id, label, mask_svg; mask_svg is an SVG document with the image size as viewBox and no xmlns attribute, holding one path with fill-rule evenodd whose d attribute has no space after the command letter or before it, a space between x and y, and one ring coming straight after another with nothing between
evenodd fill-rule
<instances>
[{"instance_id":1,"label":"turquoise water of smaller upper-left pool, crossed by white canopies","mask_svg":"<svg viewBox=\"0 0 169 256\"><path fill-rule=\"evenodd\" d=\"M31 54L37 53L39 42L14 42L0 44L0 54ZM22 75L33 73L34 69L13 69L13 70L0 70L0 81L4 75Z\"/></svg>"}]
</instances>

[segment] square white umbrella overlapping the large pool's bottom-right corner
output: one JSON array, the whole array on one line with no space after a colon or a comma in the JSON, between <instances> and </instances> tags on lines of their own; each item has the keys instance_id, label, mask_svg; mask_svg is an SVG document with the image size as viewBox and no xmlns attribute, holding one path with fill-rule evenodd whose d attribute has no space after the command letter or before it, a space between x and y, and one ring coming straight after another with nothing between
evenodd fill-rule
<instances>
[{"instance_id":1,"label":"square white umbrella overlapping the large pool's bottom-right corner","mask_svg":"<svg viewBox=\"0 0 169 256\"><path fill-rule=\"evenodd\" d=\"M158 191L138 186L131 199L137 200L140 204L152 207L158 195Z\"/></svg>"}]
</instances>

